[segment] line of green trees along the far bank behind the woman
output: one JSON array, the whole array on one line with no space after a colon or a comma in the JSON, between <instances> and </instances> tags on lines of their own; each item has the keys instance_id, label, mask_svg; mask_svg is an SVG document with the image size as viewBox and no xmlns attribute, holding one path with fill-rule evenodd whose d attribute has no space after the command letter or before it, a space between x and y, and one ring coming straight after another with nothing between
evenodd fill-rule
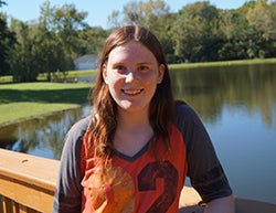
<instances>
[{"instance_id":1,"label":"line of green trees along the far bank behind the woman","mask_svg":"<svg viewBox=\"0 0 276 213\"><path fill-rule=\"evenodd\" d=\"M0 9L9 7L0 1ZM125 24L142 24L159 38L169 63L276 57L276 1L251 0L222 10L209 1L171 12L163 0L130 1L108 17L108 29L85 22L75 4L45 0L38 20L22 22L0 12L0 75L34 82L74 70L74 58L99 54L106 36Z\"/></svg>"}]
</instances>

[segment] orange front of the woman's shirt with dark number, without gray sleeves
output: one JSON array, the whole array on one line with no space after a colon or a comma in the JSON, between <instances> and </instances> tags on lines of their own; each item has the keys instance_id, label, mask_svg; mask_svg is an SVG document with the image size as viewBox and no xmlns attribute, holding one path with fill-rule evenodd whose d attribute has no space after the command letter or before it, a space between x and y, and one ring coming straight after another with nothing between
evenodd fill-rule
<instances>
[{"instance_id":1,"label":"orange front of the woman's shirt with dark number, without gray sleeves","mask_svg":"<svg viewBox=\"0 0 276 213\"><path fill-rule=\"evenodd\" d=\"M164 155L163 143L158 142L160 160L152 156L148 143L131 158L116 153L104 177L94 167L92 151L84 142L83 212L178 212L187 175L185 143L174 125L169 129L171 151Z\"/></svg>"}]
</instances>

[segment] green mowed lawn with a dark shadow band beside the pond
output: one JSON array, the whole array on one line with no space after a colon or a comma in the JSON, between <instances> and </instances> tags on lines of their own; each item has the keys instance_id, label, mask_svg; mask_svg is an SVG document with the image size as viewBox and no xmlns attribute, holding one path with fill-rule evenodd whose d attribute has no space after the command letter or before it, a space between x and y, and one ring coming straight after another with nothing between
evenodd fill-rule
<instances>
[{"instance_id":1,"label":"green mowed lawn with a dark shadow band beside the pond","mask_svg":"<svg viewBox=\"0 0 276 213\"><path fill-rule=\"evenodd\" d=\"M0 126L88 103L91 83L0 84Z\"/></svg>"}]
</instances>

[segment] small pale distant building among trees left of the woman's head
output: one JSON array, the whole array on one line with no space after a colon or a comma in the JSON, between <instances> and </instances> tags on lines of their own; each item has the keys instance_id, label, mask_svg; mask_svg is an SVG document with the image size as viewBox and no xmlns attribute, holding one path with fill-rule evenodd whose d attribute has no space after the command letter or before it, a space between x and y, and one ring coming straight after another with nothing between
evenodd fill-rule
<instances>
[{"instance_id":1,"label":"small pale distant building among trees left of the woman's head","mask_svg":"<svg viewBox=\"0 0 276 213\"><path fill-rule=\"evenodd\" d=\"M74 60L75 70L94 70L97 67L98 56L94 54L83 55Z\"/></svg>"}]
</instances>

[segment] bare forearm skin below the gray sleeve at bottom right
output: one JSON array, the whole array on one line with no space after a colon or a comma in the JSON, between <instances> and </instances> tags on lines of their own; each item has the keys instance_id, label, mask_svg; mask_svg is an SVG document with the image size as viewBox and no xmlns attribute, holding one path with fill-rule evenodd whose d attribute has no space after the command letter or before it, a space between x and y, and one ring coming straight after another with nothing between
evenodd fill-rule
<instances>
[{"instance_id":1,"label":"bare forearm skin below the gray sleeve at bottom right","mask_svg":"<svg viewBox=\"0 0 276 213\"><path fill-rule=\"evenodd\" d=\"M204 213L234 213L235 212L235 202L232 195L215 199L208 203Z\"/></svg>"}]
</instances>

